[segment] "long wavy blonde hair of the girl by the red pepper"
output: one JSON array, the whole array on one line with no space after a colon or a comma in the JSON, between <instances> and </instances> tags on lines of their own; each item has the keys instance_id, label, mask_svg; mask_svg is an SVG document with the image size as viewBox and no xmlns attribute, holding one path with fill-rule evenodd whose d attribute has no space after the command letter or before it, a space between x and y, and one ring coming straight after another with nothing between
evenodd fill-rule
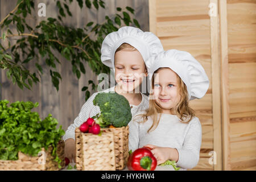
<instances>
[{"instance_id":1,"label":"long wavy blonde hair of the girl by the red pepper","mask_svg":"<svg viewBox=\"0 0 256 182\"><path fill-rule=\"evenodd\" d=\"M155 73L157 73L160 69L157 69ZM152 76L152 80L151 80L151 91L152 89L154 89L154 74ZM180 96L179 102L177 103L177 105L172 108L172 112L174 114L177 115L177 117L179 117L180 122L182 123L189 123L191 121L191 119L195 116L195 111L189 107L188 105L188 91L187 91L187 86L184 84L184 82L181 80L181 78L177 75L177 92ZM153 93L150 92L150 97L152 97ZM158 113L160 113L160 116L158 118ZM158 123L160 121L161 118L161 114L162 113L162 108L156 103L155 100L150 99L149 101L149 107L146 110L146 113L144 114L139 114L136 117L141 116L141 118L143 118L143 123L147 121L148 117L152 118L152 126L150 127L150 129L147 130L147 132L149 133L151 129L155 130L156 127L158 126Z\"/></svg>"}]
</instances>

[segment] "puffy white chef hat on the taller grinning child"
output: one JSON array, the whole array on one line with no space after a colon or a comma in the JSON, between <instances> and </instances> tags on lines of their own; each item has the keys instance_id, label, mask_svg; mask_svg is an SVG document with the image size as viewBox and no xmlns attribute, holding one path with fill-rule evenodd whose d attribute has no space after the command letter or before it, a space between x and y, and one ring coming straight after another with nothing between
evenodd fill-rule
<instances>
[{"instance_id":1,"label":"puffy white chef hat on the taller grinning child","mask_svg":"<svg viewBox=\"0 0 256 182\"><path fill-rule=\"evenodd\" d=\"M156 56L163 51L163 46L152 32L143 32L139 28L125 26L116 32L108 34L102 42L101 61L110 68L114 68L115 51L121 44L128 43L135 47L142 55L147 66L150 56Z\"/></svg>"}]
</instances>

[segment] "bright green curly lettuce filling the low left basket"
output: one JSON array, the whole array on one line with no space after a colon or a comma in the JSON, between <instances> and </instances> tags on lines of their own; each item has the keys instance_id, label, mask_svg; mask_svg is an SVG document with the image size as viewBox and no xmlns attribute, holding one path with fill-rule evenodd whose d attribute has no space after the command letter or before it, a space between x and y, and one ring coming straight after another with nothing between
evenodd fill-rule
<instances>
[{"instance_id":1,"label":"bright green curly lettuce filling the low left basket","mask_svg":"<svg viewBox=\"0 0 256 182\"><path fill-rule=\"evenodd\" d=\"M31 109L38 102L16 101L7 106L9 101L0 101L0 160L18 160L18 152L37 156L44 147L53 147L52 156L59 163L56 154L57 144L65 134L61 126L57 129L57 120L51 114L41 120L39 114Z\"/></svg>"}]
</instances>

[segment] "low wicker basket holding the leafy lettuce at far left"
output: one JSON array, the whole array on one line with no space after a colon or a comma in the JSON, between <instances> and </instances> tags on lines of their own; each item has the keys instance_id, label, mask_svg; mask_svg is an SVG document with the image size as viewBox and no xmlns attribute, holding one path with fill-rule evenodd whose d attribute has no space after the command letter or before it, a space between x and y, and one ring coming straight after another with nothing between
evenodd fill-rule
<instances>
[{"instance_id":1,"label":"low wicker basket holding the leafy lettuce at far left","mask_svg":"<svg viewBox=\"0 0 256 182\"><path fill-rule=\"evenodd\" d=\"M61 169L65 167L64 160L64 141L61 140L57 145L57 155L62 160L60 165ZM42 151L46 152L46 162L43 162L43 156L28 156L22 152L18 152L18 160L0 160L0 170L3 171L57 171L60 170L59 165L53 159L51 155L52 147L48 147L46 151L42 148ZM40 164L41 162L41 164Z\"/></svg>"}]
</instances>

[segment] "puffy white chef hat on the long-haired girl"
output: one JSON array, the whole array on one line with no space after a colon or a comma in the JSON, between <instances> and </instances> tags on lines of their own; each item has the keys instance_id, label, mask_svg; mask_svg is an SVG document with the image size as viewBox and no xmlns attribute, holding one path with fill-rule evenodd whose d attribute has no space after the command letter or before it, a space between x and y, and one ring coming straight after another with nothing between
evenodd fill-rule
<instances>
[{"instance_id":1,"label":"puffy white chef hat on the long-haired girl","mask_svg":"<svg viewBox=\"0 0 256 182\"><path fill-rule=\"evenodd\" d=\"M202 65L188 52L170 49L148 60L150 82L158 68L171 68L187 86L189 100L202 98L209 88L209 79Z\"/></svg>"}]
</instances>

